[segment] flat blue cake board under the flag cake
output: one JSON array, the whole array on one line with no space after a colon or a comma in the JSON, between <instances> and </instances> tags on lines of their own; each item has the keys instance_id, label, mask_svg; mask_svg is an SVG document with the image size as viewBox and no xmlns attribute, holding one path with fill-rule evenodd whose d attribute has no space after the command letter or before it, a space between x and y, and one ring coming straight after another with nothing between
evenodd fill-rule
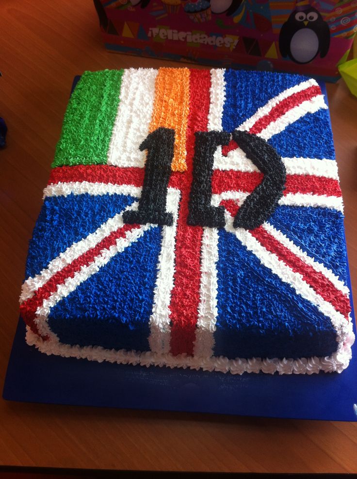
<instances>
[{"instance_id":1,"label":"flat blue cake board under the flag cake","mask_svg":"<svg viewBox=\"0 0 357 479\"><path fill-rule=\"evenodd\" d=\"M75 77L72 91L79 80ZM320 85L327 102L325 85ZM348 267L348 266L347 266ZM351 281L348 272L348 285ZM354 308L352 321L356 332ZM45 355L19 319L2 397L8 401L357 421L357 344L342 373L204 372Z\"/></svg>"}]
</instances>

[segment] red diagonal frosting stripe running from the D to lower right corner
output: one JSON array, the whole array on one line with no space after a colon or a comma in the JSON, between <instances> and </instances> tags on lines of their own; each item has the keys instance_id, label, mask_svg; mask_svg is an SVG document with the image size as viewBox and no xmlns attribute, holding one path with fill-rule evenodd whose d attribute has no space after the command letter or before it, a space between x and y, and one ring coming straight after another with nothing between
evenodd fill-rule
<instances>
[{"instance_id":1,"label":"red diagonal frosting stripe running from the D to lower right corner","mask_svg":"<svg viewBox=\"0 0 357 479\"><path fill-rule=\"evenodd\" d=\"M340 313L348 319L348 314L351 311L349 299L337 289L324 274L304 263L261 226L255 230L251 230L250 233L257 238L264 248L275 253L279 260L283 261L287 266L290 266L295 273L300 273L304 281L306 281L317 294L322 296L325 301L331 303L337 311L340 311Z\"/></svg>"}]
</instances>

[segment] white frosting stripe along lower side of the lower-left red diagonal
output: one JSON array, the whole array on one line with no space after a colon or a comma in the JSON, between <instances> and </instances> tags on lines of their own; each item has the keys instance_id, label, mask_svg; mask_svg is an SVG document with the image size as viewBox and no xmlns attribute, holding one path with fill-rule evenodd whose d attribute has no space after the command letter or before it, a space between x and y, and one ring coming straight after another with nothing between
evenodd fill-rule
<instances>
[{"instance_id":1,"label":"white frosting stripe along lower side of the lower-left red diagonal","mask_svg":"<svg viewBox=\"0 0 357 479\"><path fill-rule=\"evenodd\" d=\"M59 301L68 296L74 291L77 286L90 278L93 274L97 273L99 268L105 266L117 253L121 253L125 248L128 248L133 242L137 241L144 232L157 225L142 225L140 228L135 228L130 231L126 231L125 237L117 238L115 244L108 249L102 249L98 256L94 258L94 261L88 265L81 266L79 271L73 275L73 277L66 278L64 283L57 285L57 290L53 292L49 298L45 299L42 306L39 306L36 310L35 323L38 326L38 330L42 335L48 335L53 337L54 334L49 329L47 322L50 309L53 308Z\"/></svg>"}]
</instances>

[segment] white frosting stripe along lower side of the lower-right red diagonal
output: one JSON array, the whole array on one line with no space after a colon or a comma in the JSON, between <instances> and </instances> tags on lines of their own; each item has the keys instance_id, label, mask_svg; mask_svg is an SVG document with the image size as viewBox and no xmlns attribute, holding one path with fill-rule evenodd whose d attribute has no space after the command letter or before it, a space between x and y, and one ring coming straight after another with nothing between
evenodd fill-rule
<instances>
[{"instance_id":1,"label":"white frosting stripe along lower side of the lower-right red diagonal","mask_svg":"<svg viewBox=\"0 0 357 479\"><path fill-rule=\"evenodd\" d=\"M262 265L269 268L284 283L292 286L298 294L314 304L321 313L327 316L331 320L337 335L341 337L342 329L347 324L347 320L332 306L331 303L325 301L322 296L317 294L312 287L304 281L300 273L294 272L283 261L280 261L276 254L271 253L264 248L249 231L244 230L243 228L233 228L233 218L229 213L226 213L225 229L226 231L235 234L240 242L249 251L252 251L257 258L259 258Z\"/></svg>"}]
</instances>

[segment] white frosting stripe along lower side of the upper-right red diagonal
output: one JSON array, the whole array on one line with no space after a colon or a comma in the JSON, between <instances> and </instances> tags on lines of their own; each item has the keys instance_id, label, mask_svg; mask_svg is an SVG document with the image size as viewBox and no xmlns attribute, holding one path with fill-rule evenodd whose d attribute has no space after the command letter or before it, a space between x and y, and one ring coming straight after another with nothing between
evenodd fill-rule
<instances>
[{"instance_id":1,"label":"white frosting stripe along lower side of the upper-right red diagonal","mask_svg":"<svg viewBox=\"0 0 357 479\"><path fill-rule=\"evenodd\" d=\"M311 100L306 100L299 106L295 106L291 110L284 113L284 115L280 116L275 122L270 123L266 128L258 133L258 136L264 140L269 140L269 138L285 130L288 125L296 122L296 120L299 120L299 118L305 116L307 113L315 113L321 108L327 109L324 95L314 96L311 98Z\"/></svg>"}]
</instances>

